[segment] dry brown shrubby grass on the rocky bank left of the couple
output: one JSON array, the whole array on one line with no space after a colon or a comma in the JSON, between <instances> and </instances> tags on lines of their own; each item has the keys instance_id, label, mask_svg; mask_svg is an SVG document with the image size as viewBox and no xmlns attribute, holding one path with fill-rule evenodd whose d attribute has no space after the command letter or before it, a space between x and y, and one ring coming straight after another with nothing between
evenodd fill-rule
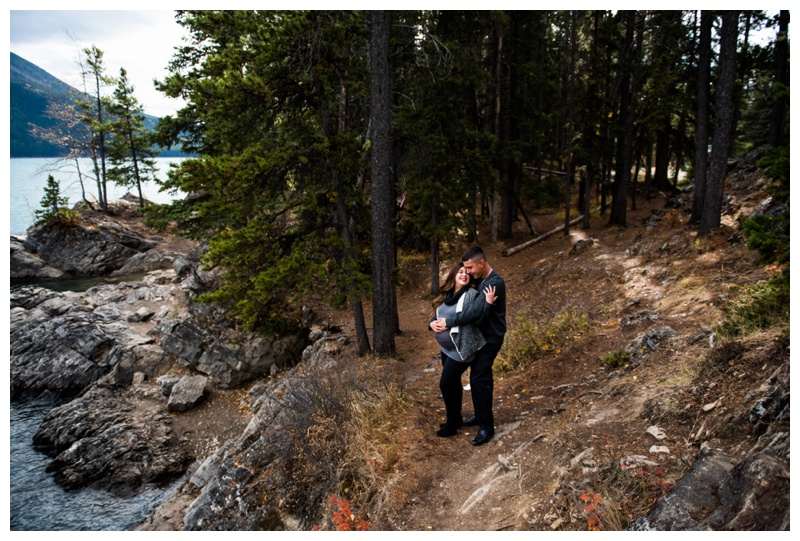
<instances>
[{"instance_id":1,"label":"dry brown shrubby grass on the rocky bank left of the couple","mask_svg":"<svg viewBox=\"0 0 800 541\"><path fill-rule=\"evenodd\" d=\"M368 526L355 520L350 507L376 505L397 472L397 423L408 406L371 361L308 373L281 398L286 417L275 452L279 467L291 472L282 487L284 508L319 521L326 502L336 505L333 520L340 530ZM331 494L347 494L348 500L329 500Z\"/></svg>"}]
</instances>

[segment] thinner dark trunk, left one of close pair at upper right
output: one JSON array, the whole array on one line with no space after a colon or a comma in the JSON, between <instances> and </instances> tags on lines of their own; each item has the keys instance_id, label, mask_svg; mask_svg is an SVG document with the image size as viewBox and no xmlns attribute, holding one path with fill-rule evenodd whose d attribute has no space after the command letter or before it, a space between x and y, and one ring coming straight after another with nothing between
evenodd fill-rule
<instances>
[{"instance_id":1,"label":"thinner dark trunk, left one of close pair at upper right","mask_svg":"<svg viewBox=\"0 0 800 541\"><path fill-rule=\"evenodd\" d=\"M711 27L714 16L703 10L700 14L700 43L697 58L697 124L695 128L694 197L689 223L698 225L703 212L708 172L708 119L711 89Z\"/></svg>"}]
</instances>

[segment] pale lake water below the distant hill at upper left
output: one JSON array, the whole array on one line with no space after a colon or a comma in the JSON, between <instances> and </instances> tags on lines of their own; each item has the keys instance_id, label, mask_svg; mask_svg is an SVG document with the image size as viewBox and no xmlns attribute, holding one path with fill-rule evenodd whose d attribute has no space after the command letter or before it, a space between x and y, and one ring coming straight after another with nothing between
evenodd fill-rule
<instances>
[{"instance_id":1,"label":"pale lake water below the distant hill at upper left","mask_svg":"<svg viewBox=\"0 0 800 541\"><path fill-rule=\"evenodd\" d=\"M186 158L156 158L156 177L166 179L170 163L180 163ZM91 160L79 160L81 171L91 170ZM55 158L11 158L9 160L9 218L10 233L22 234L33 225L34 211L39 210L39 204L44 196L48 175L59 181L62 195L69 199L67 206L72 207L82 200L81 186L78 180L77 167L74 161L57 160ZM97 185L94 181L85 182L86 197L90 201L97 200ZM119 199L127 192L138 195L135 188L121 188L114 183L108 183L108 199ZM142 185L144 198L154 203L168 203L175 199L175 195L159 192L155 182L146 182Z\"/></svg>"}]
</instances>

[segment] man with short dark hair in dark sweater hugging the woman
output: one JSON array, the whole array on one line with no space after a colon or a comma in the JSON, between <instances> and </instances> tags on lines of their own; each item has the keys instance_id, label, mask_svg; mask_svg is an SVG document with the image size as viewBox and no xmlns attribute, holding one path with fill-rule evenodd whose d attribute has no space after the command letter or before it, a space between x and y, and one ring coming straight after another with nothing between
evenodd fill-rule
<instances>
[{"instance_id":1,"label":"man with short dark hair in dark sweater hugging the woman","mask_svg":"<svg viewBox=\"0 0 800 541\"><path fill-rule=\"evenodd\" d=\"M483 346L469 364L469 383L472 389L472 405L475 415L464 422L464 426L478 426L478 434L472 445L483 445L494 436L494 415L492 414L492 395L494 376L492 365L497 357L506 335L506 283L503 277L486 261L486 254L479 246L469 248L461 256L464 268L478 282L478 289L489 290L495 296L494 303L473 302L453 318L441 318L431 323L431 328L444 331L458 325L473 323L477 325L486 339ZM460 389L459 389L460 390ZM445 396L445 401L456 397ZM460 396L458 397L460 400Z\"/></svg>"}]
</instances>

